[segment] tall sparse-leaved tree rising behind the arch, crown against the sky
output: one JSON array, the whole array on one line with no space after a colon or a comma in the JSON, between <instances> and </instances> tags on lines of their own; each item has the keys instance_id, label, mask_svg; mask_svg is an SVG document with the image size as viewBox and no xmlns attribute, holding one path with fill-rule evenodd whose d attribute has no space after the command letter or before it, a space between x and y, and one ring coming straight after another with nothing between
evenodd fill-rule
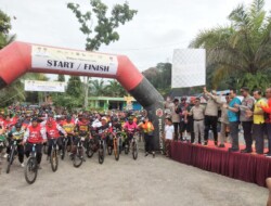
<instances>
[{"instance_id":1,"label":"tall sparse-leaved tree rising behind the arch, crown against the sky","mask_svg":"<svg viewBox=\"0 0 271 206\"><path fill-rule=\"evenodd\" d=\"M119 34L117 28L129 22L137 14L136 10L130 10L128 2L124 4L115 4L108 16L108 8L101 0L90 0L91 9L86 13L81 12L80 5L77 3L68 3L67 8L70 9L79 24L80 30L86 35L86 50L94 51L105 43L117 41ZM88 89L89 78L85 82L85 108L88 107Z\"/></svg>"}]
</instances>

